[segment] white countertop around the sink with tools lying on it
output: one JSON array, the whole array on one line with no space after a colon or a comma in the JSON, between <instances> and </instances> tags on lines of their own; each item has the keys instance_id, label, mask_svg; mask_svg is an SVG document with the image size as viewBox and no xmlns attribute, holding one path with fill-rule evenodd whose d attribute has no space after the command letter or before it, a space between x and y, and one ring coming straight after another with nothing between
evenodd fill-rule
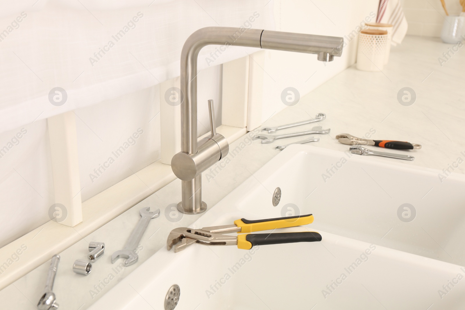
<instances>
[{"instance_id":1,"label":"white countertop around the sink with tools lying on it","mask_svg":"<svg viewBox=\"0 0 465 310\"><path fill-rule=\"evenodd\" d=\"M401 46L392 48L390 63L382 73L363 72L351 67L303 97L296 106L274 115L266 125L292 123L324 112L326 120L317 125L331 128L331 133L319 135L320 141L312 142L313 146L347 151L348 145L342 145L334 139L337 134L350 133L362 137L371 130L376 131L372 139L409 141L423 147L412 151L386 150L374 146L369 148L415 156L412 162L402 161L405 165L447 169L457 158L465 160L465 139L461 137L460 129L465 123L465 52L455 53L442 67L438 61L438 57L443 57L442 54L448 52L451 46L436 38L406 37ZM402 106L397 100L397 93L403 87L411 87L416 92L417 99L412 106ZM313 125L290 128L283 132L312 128ZM253 132L247 135L252 136ZM252 143L247 135L230 145L228 164L212 167L219 166L221 171L218 168L218 173L203 173L203 200L208 206L218 203L277 155L280 151L274 149L276 145L302 139L293 137L261 144L259 140ZM231 154L233 149L237 150L235 156ZM392 158L378 160L399 162ZM465 164L454 169L454 172L464 173ZM179 201L180 182L177 179L60 253L61 260L53 288L60 309L88 308L148 257L166 246L169 231L175 227L189 226L201 216L184 215L178 222L169 221L165 211L172 211L170 207ZM124 246L140 219L139 210L149 206L152 210L159 208L161 212L159 218L151 220L141 240L143 249L139 253L139 262L123 270L116 270L117 264L111 264L112 253ZM93 270L88 276L75 274L72 270L73 262L86 258L90 241L105 242L105 255L93 264ZM35 309L49 264L42 264L1 290L2 309Z\"/></svg>"}]
</instances>

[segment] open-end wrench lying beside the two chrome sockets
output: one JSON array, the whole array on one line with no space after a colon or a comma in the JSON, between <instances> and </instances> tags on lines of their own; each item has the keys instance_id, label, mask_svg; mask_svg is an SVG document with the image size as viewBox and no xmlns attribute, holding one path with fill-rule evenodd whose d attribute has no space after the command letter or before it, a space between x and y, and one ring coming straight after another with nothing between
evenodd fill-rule
<instances>
[{"instance_id":1,"label":"open-end wrench lying beside the two chrome sockets","mask_svg":"<svg viewBox=\"0 0 465 310\"><path fill-rule=\"evenodd\" d=\"M142 235L144 234L147 228L148 222L152 218L158 218L158 216L160 215L160 209L157 209L155 212L149 210L150 207L140 209L139 214L142 218L139 220L139 223L137 224L136 228L134 228L129 239L127 239L123 250L119 250L113 253L112 264L118 258L126 258L126 260L124 261L124 265L126 267L135 264L138 261L139 256L134 252L134 250L139 245L140 239L142 238Z\"/></svg>"}]
</instances>

